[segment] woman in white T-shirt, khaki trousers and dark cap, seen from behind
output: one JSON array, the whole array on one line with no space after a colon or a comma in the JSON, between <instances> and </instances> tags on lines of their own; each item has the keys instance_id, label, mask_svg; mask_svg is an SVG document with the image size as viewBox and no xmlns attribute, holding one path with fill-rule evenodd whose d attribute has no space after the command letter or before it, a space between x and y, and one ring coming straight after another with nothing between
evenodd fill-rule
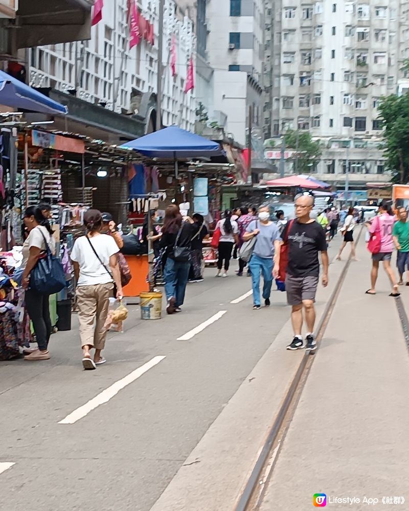
<instances>
[{"instance_id":1,"label":"woman in white T-shirt, khaki trousers and dark cap, seen from behind","mask_svg":"<svg viewBox=\"0 0 409 511\"><path fill-rule=\"evenodd\" d=\"M105 347L105 320L108 316L109 297L113 281L117 285L117 298L122 298L121 273L118 264L119 248L111 236L100 233L102 216L98 210L84 215L87 235L74 243L71 260L77 280L77 306L80 323L82 365L96 369L106 360L101 356ZM94 321L96 326L94 330ZM89 353L95 348L94 360Z\"/></svg>"}]
</instances>

